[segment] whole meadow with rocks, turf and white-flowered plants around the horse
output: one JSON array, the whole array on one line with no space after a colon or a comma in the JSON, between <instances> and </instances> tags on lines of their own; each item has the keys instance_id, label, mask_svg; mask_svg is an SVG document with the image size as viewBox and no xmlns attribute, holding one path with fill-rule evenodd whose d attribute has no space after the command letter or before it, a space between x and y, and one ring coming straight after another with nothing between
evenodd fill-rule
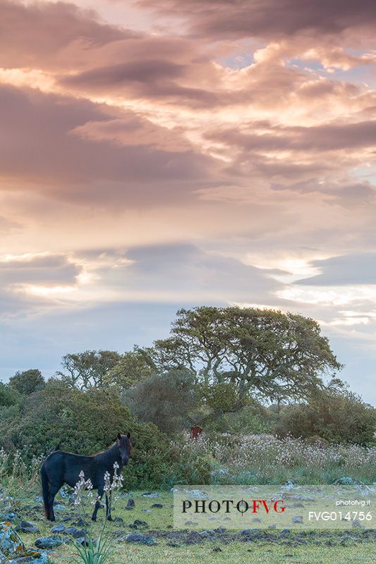
<instances>
[{"instance_id":1,"label":"whole meadow with rocks, turf and white-flowered plants around the horse","mask_svg":"<svg viewBox=\"0 0 376 564\"><path fill-rule=\"evenodd\" d=\"M330 484L336 480L346 482L346 479L375 482L375 447L323 446L318 441L312 443L291 437L218 434L202 436L198 441L181 437L178 443L175 441L174 448L181 449L188 463L190 456L198 453L209 460L212 484L277 484L281 480L296 484ZM73 494L63 489L56 497L56 522L46 522L40 498L40 461L34 458L31 463L25 463L20 453L10 457L4 450L0 451L0 521L11 520L12 527L18 529L28 547L34 546L37 539L57 534L61 544L45 551L51 563L84 561L77 560L73 535L75 530L85 534L81 519L86 520L92 508L76 506ZM176 477L176 484L178 482ZM99 510L97 523L87 520L92 538L99 537L105 527L105 537L116 544L109 564L196 564L207 558L214 564L230 558L235 564L375 562L375 532L369 529L341 532L253 529L249 534L219 529L200 534L189 527L175 530L173 494L169 491L173 485L165 484L164 488L152 491L128 491L124 482L114 501L114 522L105 522L104 510ZM23 532L23 522L31 523L35 529ZM54 532L56 526L60 526L58 533ZM130 534L136 537L129 537Z\"/></svg>"}]
</instances>

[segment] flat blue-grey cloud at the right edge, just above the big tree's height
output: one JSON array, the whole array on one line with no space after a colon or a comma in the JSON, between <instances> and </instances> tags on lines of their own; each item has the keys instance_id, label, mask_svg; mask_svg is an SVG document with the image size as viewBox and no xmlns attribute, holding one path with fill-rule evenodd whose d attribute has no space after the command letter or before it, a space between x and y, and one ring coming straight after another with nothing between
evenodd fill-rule
<instances>
[{"instance_id":1,"label":"flat blue-grey cloud at the right edge, just above the big tree's height","mask_svg":"<svg viewBox=\"0 0 376 564\"><path fill-rule=\"evenodd\" d=\"M311 265L319 268L322 273L298 280L296 284L307 286L376 284L376 252L360 252L315 260Z\"/></svg>"}]
</instances>

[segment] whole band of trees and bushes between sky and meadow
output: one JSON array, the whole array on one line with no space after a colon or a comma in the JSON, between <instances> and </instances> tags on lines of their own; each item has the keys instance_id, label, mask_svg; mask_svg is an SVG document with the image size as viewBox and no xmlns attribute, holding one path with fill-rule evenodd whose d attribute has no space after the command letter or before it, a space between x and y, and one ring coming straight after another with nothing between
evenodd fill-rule
<instances>
[{"instance_id":1,"label":"whole band of trees and bushes between sky and meadow","mask_svg":"<svg viewBox=\"0 0 376 564\"><path fill-rule=\"evenodd\" d=\"M343 443L343 459L353 443L375 445L375 410L336 377L341 364L329 342L313 319L299 315L182 309L171 336L152 348L67 354L61 367L48 381L29 369L0 384L0 448L25 462L58 448L95 453L119 431L131 431L128 487L169 487L210 482L218 464L240 460L246 436L255 434L259 444L279 441L281 448L294 437L320 448ZM204 427L205 448L184 439L192 424ZM210 445L227 435L231 446L222 460ZM248 472L245 481L267 481L259 466L250 458L239 472ZM292 467L269 480L289 479ZM337 470L326 469L326 479L341 475L341 464ZM347 470L356 472L356 463ZM235 474L229 468L227 479L242 481Z\"/></svg>"}]
</instances>

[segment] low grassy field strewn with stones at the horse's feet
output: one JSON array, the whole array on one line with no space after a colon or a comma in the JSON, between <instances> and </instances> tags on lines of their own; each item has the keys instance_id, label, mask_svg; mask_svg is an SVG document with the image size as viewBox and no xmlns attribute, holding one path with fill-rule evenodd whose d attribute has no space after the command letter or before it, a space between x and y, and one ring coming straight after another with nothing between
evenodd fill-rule
<instances>
[{"instance_id":1,"label":"low grassy field strewn with stones at the horse's feet","mask_svg":"<svg viewBox=\"0 0 376 564\"><path fill-rule=\"evenodd\" d=\"M159 493L159 492L158 492ZM148 546L119 542L119 548L111 558L111 564L202 564L210 563L263 563L280 562L317 563L317 564L374 564L376 554L375 537L369 532L291 532L284 536L279 531L265 531L258 539L241 537L239 532L218 534L212 539L198 540L198 534L192 538L189 531L174 531L172 528L172 494L160 492L157 498L142 496L142 492L134 492L135 507L126 510L129 497L121 497L116 502L114 517L121 520L107 523L107 531L111 537L123 536L131 532L140 532L152 536L155 544ZM62 501L58 500L59 503ZM65 510L56 511L56 523L44 521L42 508L35 505L34 498L23 497L20 517L35 522L39 534L20 534L25 544L32 546L37 538L48 536L51 528L63 523L66 527L77 524L80 512L72 505ZM162 504L162 508L152 508L154 503ZM92 527L95 537L103 525L104 510L99 512L98 522ZM147 526L138 529L130 528L135 520L145 521ZM63 534L61 535L65 537ZM64 544L50 554L53 563L71 564L75 553L71 544Z\"/></svg>"}]
</instances>

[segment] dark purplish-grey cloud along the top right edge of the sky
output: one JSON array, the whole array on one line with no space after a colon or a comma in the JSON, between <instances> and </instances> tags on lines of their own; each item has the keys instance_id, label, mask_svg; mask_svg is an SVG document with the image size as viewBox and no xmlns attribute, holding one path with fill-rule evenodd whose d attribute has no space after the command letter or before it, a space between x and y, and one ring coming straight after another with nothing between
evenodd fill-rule
<instances>
[{"instance_id":1,"label":"dark purplish-grey cloud along the top right edge of the sky","mask_svg":"<svg viewBox=\"0 0 376 564\"><path fill-rule=\"evenodd\" d=\"M315 30L339 33L376 22L373 0L138 0L164 16L182 17L196 36L278 37Z\"/></svg>"}]
</instances>

